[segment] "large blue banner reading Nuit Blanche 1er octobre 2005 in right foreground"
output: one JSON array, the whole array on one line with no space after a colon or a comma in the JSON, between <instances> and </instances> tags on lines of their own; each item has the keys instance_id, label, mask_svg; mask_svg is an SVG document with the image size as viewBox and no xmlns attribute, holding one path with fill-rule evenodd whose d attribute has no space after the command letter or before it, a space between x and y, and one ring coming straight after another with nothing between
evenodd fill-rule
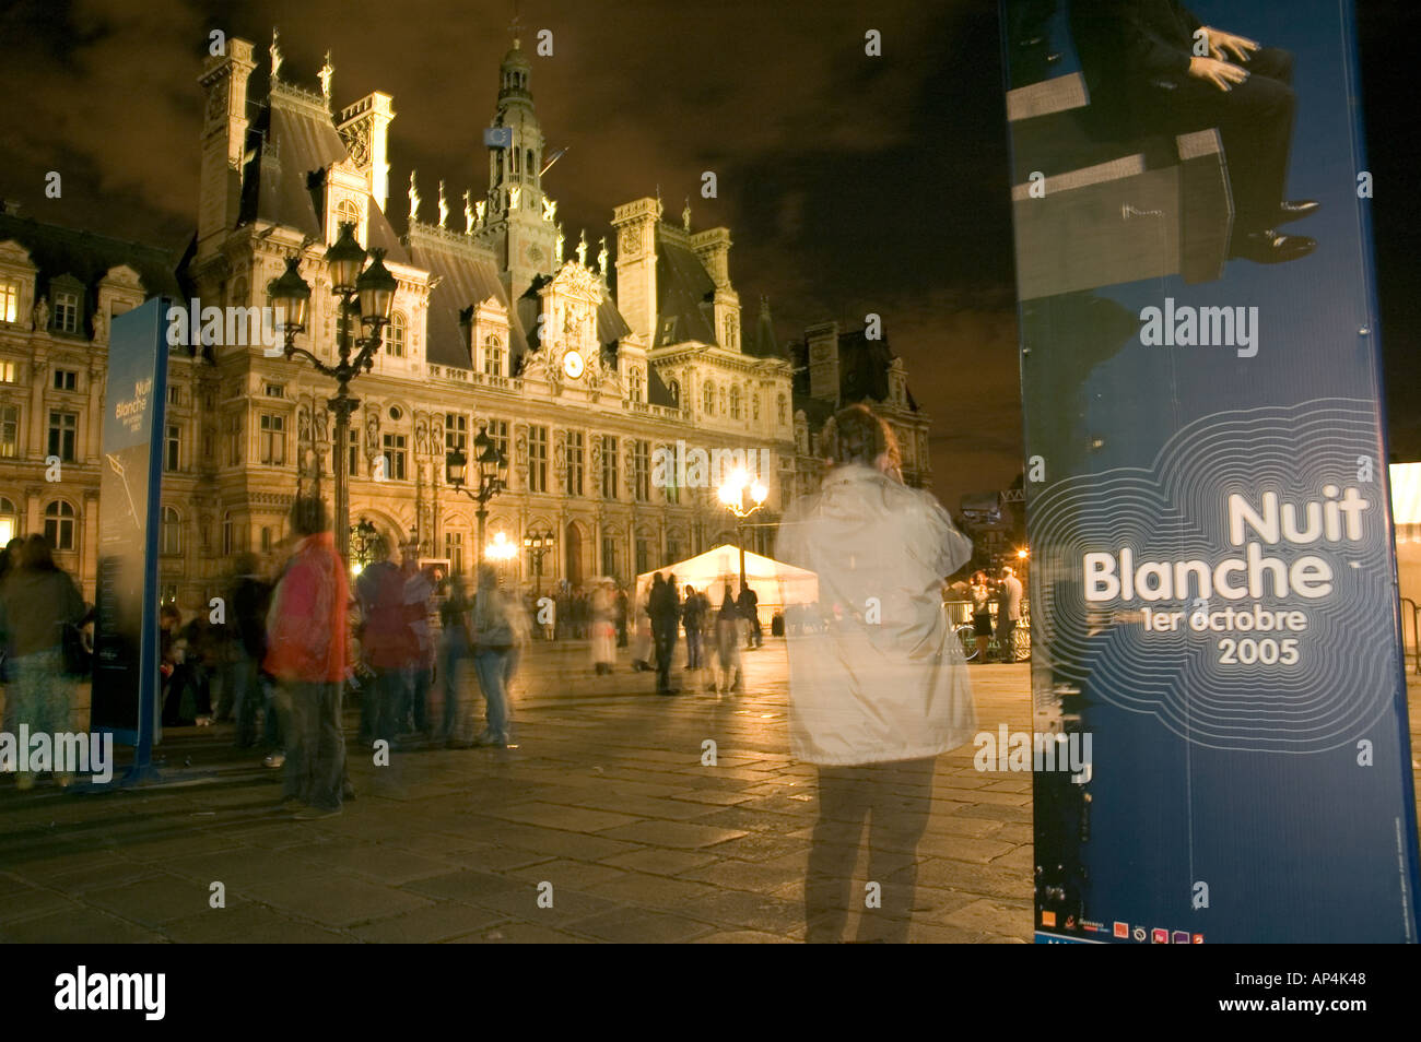
<instances>
[{"instance_id":1,"label":"large blue banner reading Nuit Blanche 1er octobre 2005 in right foreground","mask_svg":"<svg viewBox=\"0 0 1421 1042\"><path fill-rule=\"evenodd\" d=\"M1005 24L1037 940L1415 941L1351 7Z\"/></svg>"}]
</instances>

